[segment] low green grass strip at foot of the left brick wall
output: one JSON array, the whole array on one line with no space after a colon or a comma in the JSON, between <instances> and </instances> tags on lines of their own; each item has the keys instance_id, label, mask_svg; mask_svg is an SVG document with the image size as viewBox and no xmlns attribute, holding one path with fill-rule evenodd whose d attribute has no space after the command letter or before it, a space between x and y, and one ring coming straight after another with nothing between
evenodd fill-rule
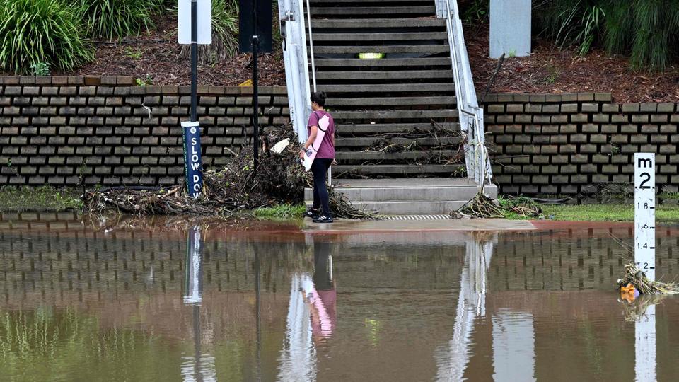
<instances>
[{"instance_id":1,"label":"low green grass strip at foot of the left brick wall","mask_svg":"<svg viewBox=\"0 0 679 382\"><path fill-rule=\"evenodd\" d=\"M0 212L60 212L82 209L79 192L54 187L0 187Z\"/></svg>"}]
</instances>

